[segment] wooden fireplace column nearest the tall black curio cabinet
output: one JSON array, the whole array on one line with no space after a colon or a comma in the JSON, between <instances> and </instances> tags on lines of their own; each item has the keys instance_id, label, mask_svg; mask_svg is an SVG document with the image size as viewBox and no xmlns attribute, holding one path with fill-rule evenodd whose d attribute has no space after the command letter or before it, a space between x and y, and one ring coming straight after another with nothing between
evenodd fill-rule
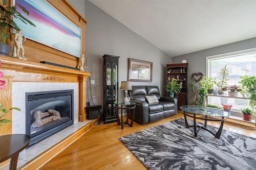
<instances>
[{"instance_id":1,"label":"wooden fireplace column nearest the tall black curio cabinet","mask_svg":"<svg viewBox=\"0 0 256 170\"><path fill-rule=\"evenodd\" d=\"M87 119L86 115L86 81L88 76L81 75L79 77L79 122Z\"/></svg>"}]
</instances>

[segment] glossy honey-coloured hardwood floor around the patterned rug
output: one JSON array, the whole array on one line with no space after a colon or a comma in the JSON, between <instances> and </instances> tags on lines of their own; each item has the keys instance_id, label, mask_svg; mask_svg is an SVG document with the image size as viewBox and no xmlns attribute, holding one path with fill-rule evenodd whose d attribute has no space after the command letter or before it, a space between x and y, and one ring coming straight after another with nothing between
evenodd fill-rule
<instances>
[{"instance_id":1,"label":"glossy honey-coloured hardwood floor around the patterned rug","mask_svg":"<svg viewBox=\"0 0 256 170\"><path fill-rule=\"evenodd\" d=\"M125 126L123 130L116 123L95 126L40 169L146 169L118 138L181 117L179 112L146 125L134 123L132 128ZM208 125L218 127L219 123ZM224 129L256 138L253 126L226 121Z\"/></svg>"}]
</instances>

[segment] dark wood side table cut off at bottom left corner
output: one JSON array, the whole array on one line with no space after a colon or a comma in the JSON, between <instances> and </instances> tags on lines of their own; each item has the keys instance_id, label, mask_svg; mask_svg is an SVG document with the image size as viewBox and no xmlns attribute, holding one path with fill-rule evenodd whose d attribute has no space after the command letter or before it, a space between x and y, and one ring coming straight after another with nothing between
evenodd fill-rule
<instances>
[{"instance_id":1,"label":"dark wood side table cut off at bottom left corner","mask_svg":"<svg viewBox=\"0 0 256 170\"><path fill-rule=\"evenodd\" d=\"M9 170L17 168L18 154L26 149L31 137L25 134L0 136L0 163L11 158Z\"/></svg>"}]
</instances>

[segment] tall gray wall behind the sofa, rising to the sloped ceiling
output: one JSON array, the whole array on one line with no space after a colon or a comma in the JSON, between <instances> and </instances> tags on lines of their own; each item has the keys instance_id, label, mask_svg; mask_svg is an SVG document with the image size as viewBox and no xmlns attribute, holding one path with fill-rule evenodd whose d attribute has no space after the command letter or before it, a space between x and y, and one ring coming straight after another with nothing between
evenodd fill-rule
<instances>
[{"instance_id":1,"label":"tall gray wall behind the sofa, rising to the sloped ceiling","mask_svg":"<svg viewBox=\"0 0 256 170\"><path fill-rule=\"evenodd\" d=\"M87 19L86 56L88 57L95 104L103 104L103 58L104 54L120 56L119 86L128 79L128 58L153 62L153 82L132 82L133 85L157 85L163 93L165 65L172 63L172 58L163 53L129 28L125 27L88 1L69 0L69 2ZM119 99L124 91L119 90Z\"/></svg>"}]
</instances>

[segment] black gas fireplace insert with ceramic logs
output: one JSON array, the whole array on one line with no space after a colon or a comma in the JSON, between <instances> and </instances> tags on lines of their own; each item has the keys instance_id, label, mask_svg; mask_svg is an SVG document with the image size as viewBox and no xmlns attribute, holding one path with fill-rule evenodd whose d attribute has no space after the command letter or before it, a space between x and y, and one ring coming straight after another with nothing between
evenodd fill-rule
<instances>
[{"instance_id":1,"label":"black gas fireplace insert with ceramic logs","mask_svg":"<svg viewBox=\"0 0 256 170\"><path fill-rule=\"evenodd\" d=\"M74 90L26 92L26 134L30 145L73 125Z\"/></svg>"}]
</instances>

